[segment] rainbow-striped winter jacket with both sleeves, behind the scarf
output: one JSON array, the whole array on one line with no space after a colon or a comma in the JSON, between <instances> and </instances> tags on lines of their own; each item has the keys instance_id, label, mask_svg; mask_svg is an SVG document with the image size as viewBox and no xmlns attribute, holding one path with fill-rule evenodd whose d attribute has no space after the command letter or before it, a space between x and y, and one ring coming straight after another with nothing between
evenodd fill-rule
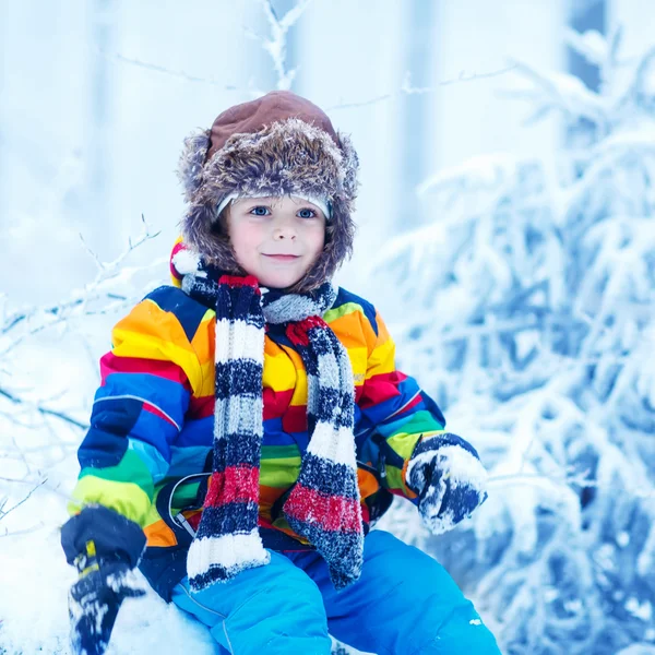
<instances>
[{"instance_id":1,"label":"rainbow-striped winter jacket with both sleeves, behind the scarf","mask_svg":"<svg viewBox=\"0 0 655 655\"><path fill-rule=\"evenodd\" d=\"M416 381L394 364L394 342L374 308L340 289L323 315L346 347L356 385L355 439L366 527L392 495L415 500L404 471L421 437L445 420ZM186 575L186 553L212 471L215 312L176 286L146 296L112 331L100 360L91 428L70 512L114 509L142 526L140 564L166 599ZM277 550L311 547L281 508L308 445L307 376L284 333L270 325L264 343L264 436L260 468L260 532Z\"/></svg>"}]
</instances>

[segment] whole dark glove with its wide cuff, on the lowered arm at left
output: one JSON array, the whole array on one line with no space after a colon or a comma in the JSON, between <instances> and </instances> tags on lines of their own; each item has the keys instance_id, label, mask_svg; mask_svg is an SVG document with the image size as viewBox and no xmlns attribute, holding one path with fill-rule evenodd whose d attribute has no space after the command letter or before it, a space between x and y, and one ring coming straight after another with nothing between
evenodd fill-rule
<instances>
[{"instance_id":1,"label":"whole dark glove with its wide cuff, on the lowered arm at left","mask_svg":"<svg viewBox=\"0 0 655 655\"><path fill-rule=\"evenodd\" d=\"M90 505L61 529L68 562L80 572L69 593L75 655L102 655L126 598L145 591L132 570L145 546L141 527L117 512Z\"/></svg>"}]
</instances>

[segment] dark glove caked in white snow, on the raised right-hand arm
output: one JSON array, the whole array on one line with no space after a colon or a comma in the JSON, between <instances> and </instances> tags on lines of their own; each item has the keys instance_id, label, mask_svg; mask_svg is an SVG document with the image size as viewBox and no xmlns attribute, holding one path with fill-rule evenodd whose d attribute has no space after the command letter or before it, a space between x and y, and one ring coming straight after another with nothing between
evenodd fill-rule
<instances>
[{"instance_id":1,"label":"dark glove caked in white snow, on the raised right-hand arm","mask_svg":"<svg viewBox=\"0 0 655 655\"><path fill-rule=\"evenodd\" d=\"M420 441L405 481L418 495L418 511L432 534L452 529L487 500L487 472L477 451L456 434Z\"/></svg>"}]
</instances>

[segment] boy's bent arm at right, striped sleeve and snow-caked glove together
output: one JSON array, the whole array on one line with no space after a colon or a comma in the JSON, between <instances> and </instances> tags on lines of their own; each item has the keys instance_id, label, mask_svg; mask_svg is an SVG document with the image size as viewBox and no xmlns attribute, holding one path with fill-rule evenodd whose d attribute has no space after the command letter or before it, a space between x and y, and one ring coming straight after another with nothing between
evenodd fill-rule
<instances>
[{"instance_id":1,"label":"boy's bent arm at right, striped sleeve and snow-caked glove together","mask_svg":"<svg viewBox=\"0 0 655 655\"><path fill-rule=\"evenodd\" d=\"M432 532L444 532L484 502L486 472L476 450L444 430L434 401L395 368L395 344L378 313L369 325L367 373L357 390L357 433L368 432L361 456L390 491L419 508Z\"/></svg>"}]
</instances>

